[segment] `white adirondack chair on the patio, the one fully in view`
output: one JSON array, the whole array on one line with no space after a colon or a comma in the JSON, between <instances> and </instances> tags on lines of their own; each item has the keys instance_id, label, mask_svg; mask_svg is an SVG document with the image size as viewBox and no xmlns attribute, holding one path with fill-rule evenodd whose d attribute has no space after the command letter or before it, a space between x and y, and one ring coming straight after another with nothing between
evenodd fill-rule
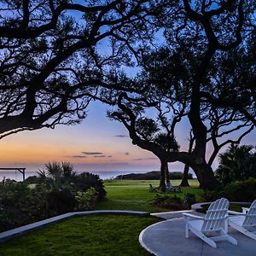
<instances>
[{"instance_id":1,"label":"white adirondack chair on the patio, the one fully in view","mask_svg":"<svg viewBox=\"0 0 256 256\"><path fill-rule=\"evenodd\" d=\"M215 241L222 240L227 240L237 245L236 239L227 234L229 205L230 202L225 198L212 202L204 218L190 213L183 213L186 224L186 238L189 238L190 230L211 247L217 247Z\"/></svg>"}]
</instances>

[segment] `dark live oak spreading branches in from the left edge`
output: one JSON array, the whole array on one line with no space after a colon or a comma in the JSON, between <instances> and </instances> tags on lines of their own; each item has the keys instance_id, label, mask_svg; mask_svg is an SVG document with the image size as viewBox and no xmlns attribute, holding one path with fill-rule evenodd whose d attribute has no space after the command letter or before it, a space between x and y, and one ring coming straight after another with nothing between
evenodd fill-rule
<instances>
[{"instance_id":1,"label":"dark live oak spreading branches in from the left edge","mask_svg":"<svg viewBox=\"0 0 256 256\"><path fill-rule=\"evenodd\" d=\"M111 73L150 38L150 4L135 1L0 1L0 138L75 124L98 88L128 90ZM108 78L106 77L108 73Z\"/></svg>"}]
</instances>

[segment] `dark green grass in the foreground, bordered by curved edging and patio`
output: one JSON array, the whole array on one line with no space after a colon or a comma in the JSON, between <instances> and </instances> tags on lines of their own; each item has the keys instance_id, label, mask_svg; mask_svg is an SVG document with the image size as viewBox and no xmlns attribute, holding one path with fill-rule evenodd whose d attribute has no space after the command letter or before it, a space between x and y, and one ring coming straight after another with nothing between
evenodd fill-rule
<instances>
[{"instance_id":1,"label":"dark green grass in the foreground, bordered by curved edging and patio","mask_svg":"<svg viewBox=\"0 0 256 256\"><path fill-rule=\"evenodd\" d=\"M131 215L70 218L0 244L0 255L150 255L140 246L138 236L158 221Z\"/></svg>"}]
</instances>

